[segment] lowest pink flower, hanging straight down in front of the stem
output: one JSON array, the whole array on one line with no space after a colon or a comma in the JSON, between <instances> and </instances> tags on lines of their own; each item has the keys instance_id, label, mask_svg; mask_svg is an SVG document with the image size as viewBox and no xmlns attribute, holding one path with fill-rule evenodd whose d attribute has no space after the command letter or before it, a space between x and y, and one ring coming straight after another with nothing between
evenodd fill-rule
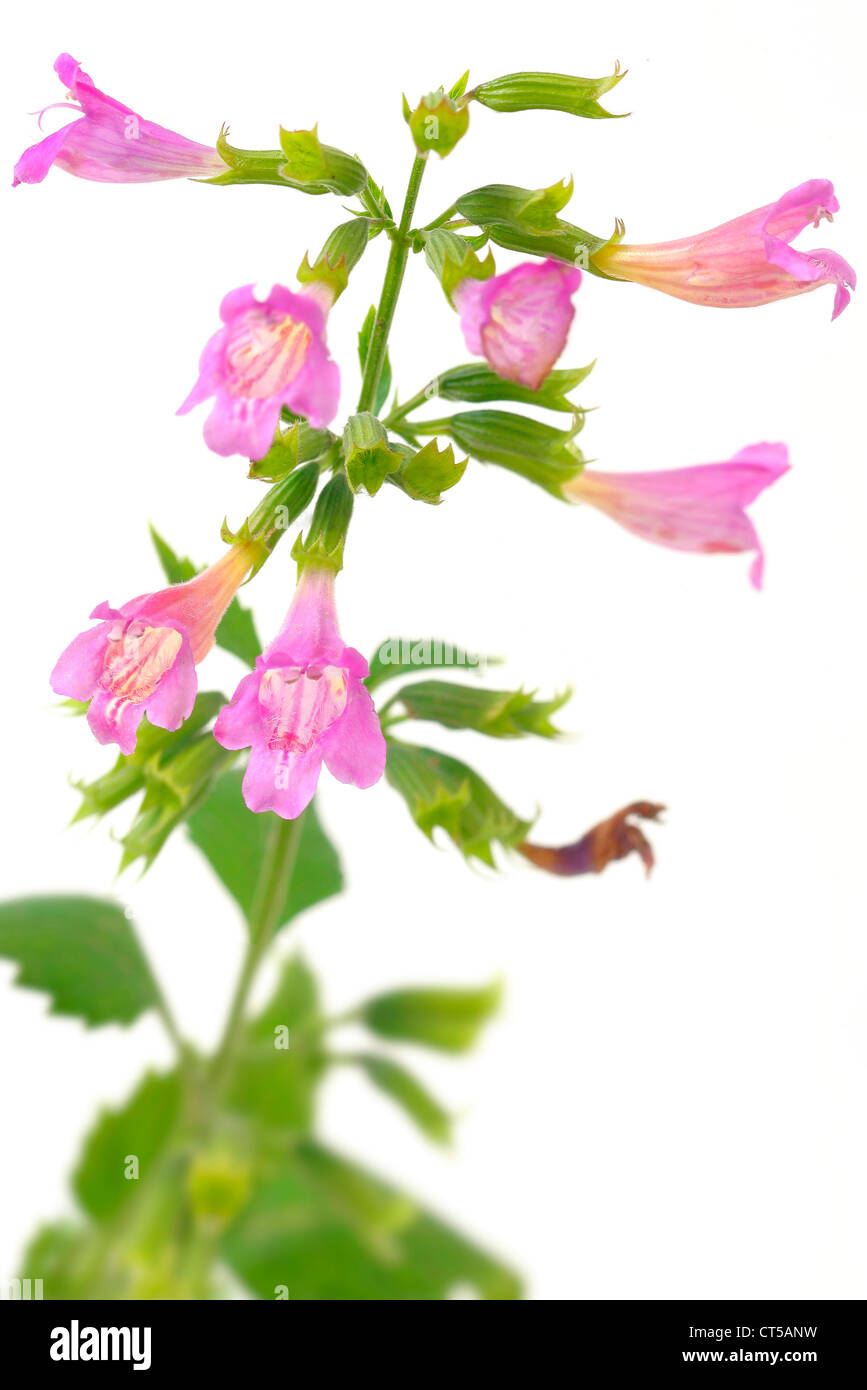
<instances>
[{"instance_id":1,"label":"lowest pink flower, hanging straight down in front of the stem","mask_svg":"<svg viewBox=\"0 0 867 1390\"><path fill-rule=\"evenodd\" d=\"M333 574L307 566L282 628L214 726L224 748L251 748L243 780L250 810L293 820L311 801L322 763L342 783L379 781L385 738L367 674L338 631Z\"/></svg>"}]
</instances>

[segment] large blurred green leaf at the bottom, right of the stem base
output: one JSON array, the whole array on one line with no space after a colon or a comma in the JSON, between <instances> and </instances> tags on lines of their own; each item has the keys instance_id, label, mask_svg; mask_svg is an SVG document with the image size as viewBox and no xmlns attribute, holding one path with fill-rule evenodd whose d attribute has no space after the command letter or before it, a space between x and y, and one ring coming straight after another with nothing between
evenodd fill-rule
<instances>
[{"instance_id":1,"label":"large blurred green leaf at the bottom, right of the stem base","mask_svg":"<svg viewBox=\"0 0 867 1390\"><path fill-rule=\"evenodd\" d=\"M360 1193L379 1216L372 1229L364 1225ZM392 1226L383 1229L389 1212ZM467 1286L482 1298L521 1295L507 1266L414 1200L318 1145L290 1156L283 1172L258 1188L224 1237L222 1254L263 1300L429 1301Z\"/></svg>"}]
</instances>

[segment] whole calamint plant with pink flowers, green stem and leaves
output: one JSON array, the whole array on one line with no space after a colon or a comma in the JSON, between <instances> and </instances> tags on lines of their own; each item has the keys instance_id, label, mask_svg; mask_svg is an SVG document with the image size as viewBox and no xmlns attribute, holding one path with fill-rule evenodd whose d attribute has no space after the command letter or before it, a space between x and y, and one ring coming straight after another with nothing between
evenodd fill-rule
<instances>
[{"instance_id":1,"label":"whole calamint plant with pink flowers, green stem and leaves","mask_svg":"<svg viewBox=\"0 0 867 1390\"><path fill-rule=\"evenodd\" d=\"M72 1176L78 1216L39 1230L21 1273L40 1279L47 1298L243 1291L263 1300L439 1300L467 1289L520 1297L510 1268L324 1144L315 1118L322 1080L352 1066L431 1141L447 1143L450 1113L392 1047L464 1052L495 1012L499 986L389 990L335 1017L307 965L292 956L258 1013L250 990L275 940L343 887L315 809L322 769L361 790L385 777L425 835L439 831L492 869L522 856L542 872L579 876L634 853L649 872L642 824L663 808L639 799L574 844L546 847L532 820L475 767L438 749L435 735L406 735L402 726L429 724L552 739L567 695L496 688L486 664L445 634L392 637L370 655L347 645L338 594L346 563L364 585L357 499L397 488L410 516L413 503L439 505L468 467L488 464L545 489L552 506L588 503L643 541L750 553L759 588L764 555L748 509L788 470L786 446L749 443L728 461L652 471L585 468L575 392L589 367L560 359L581 296L628 293L625 282L717 309L832 285L836 317L854 271L835 252L792 245L838 211L834 189L809 179L713 231L654 245L627 242L620 221L610 235L567 221L570 181L488 183L424 221L417 204L428 167L468 136L471 122L531 110L609 120L602 99L622 79L620 68L600 79L514 72L472 88L464 74L417 106L404 97L411 167L399 213L367 163L325 145L317 126L279 128L274 147L261 150L232 146L225 129L200 145L106 96L69 54L54 68L68 93L56 106L71 120L21 156L15 183L40 183L54 167L107 183L193 179L190 196L199 197L267 183L283 190L296 220L303 195L333 197L345 211L320 253L304 254L295 282L274 285L265 299L251 284L228 288L215 331L207 336L214 325L201 325L197 375L190 342L179 413L204 406L206 445L245 460L256 489L249 516L236 531L224 524L204 569L154 532L165 587L149 574L149 592L117 607L117 594L100 600L92 626L71 635L46 671L64 708L83 716L75 737L88 726L100 744L117 745L104 773L79 784L75 819L129 806L121 867L150 867L182 831L243 913L247 948L222 1037L207 1056L170 1011L117 898L0 906L0 954L17 962L19 984L50 997L53 1012L96 1027L154 1011L175 1051L170 1070L149 1072L126 1104L100 1115ZM42 196L60 195L57 186ZM353 271L381 249L379 302L360 314L361 392L338 420L340 364L328 349L328 321L357 311ZM410 263L438 278L471 360L404 393L406 366L393 391L388 348ZM253 282L256 271L253 257ZM445 414L431 414L435 399ZM720 449L709 441L709 459ZM447 506L442 516L446 525ZM267 582L260 571L289 530L297 585L263 644L239 591ZM82 594L85 609L96 598ZM388 623L382 612L383 630ZM199 685L214 644L245 667L229 698ZM370 1038L360 1051L340 1047L347 1023Z\"/></svg>"}]
</instances>

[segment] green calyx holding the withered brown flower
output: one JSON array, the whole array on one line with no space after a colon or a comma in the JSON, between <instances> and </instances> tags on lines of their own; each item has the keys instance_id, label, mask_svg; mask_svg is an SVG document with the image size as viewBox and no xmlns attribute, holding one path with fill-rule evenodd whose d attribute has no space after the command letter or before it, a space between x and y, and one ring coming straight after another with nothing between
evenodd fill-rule
<instances>
[{"instance_id":1,"label":"green calyx holding the withered brown flower","mask_svg":"<svg viewBox=\"0 0 867 1390\"><path fill-rule=\"evenodd\" d=\"M510 849L527 840L532 827L478 773L434 748L389 738L385 774L428 840L440 826L467 859L481 859L492 869L493 845Z\"/></svg>"}]
</instances>

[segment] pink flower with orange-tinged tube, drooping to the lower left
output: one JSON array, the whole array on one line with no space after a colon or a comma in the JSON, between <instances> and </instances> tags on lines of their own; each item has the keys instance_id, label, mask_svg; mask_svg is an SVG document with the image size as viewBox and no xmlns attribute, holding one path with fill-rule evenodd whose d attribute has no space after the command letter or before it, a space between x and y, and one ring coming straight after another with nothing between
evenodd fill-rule
<instances>
[{"instance_id":1,"label":"pink flower with orange-tinged tube, drooping to the lower left","mask_svg":"<svg viewBox=\"0 0 867 1390\"><path fill-rule=\"evenodd\" d=\"M254 545L233 545L186 584L121 609L100 603L90 617L101 621L69 642L51 671L51 689L90 701L93 734L122 753L133 752L144 712L160 728L181 728L196 699L195 667L254 559Z\"/></svg>"}]
</instances>

